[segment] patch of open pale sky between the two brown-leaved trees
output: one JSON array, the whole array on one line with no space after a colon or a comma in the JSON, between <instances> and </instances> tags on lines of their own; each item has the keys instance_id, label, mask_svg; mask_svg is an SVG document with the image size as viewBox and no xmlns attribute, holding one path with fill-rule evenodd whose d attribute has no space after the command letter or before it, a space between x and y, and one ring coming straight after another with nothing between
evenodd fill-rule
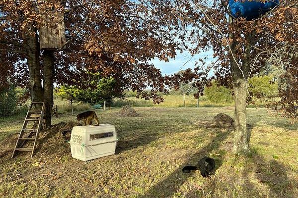
<instances>
[{"instance_id":1,"label":"patch of open pale sky between the two brown-leaved trees","mask_svg":"<svg viewBox=\"0 0 298 198\"><path fill-rule=\"evenodd\" d=\"M208 57L206 62L210 64L213 60L212 50L201 52L195 56L191 56L191 54L186 51L182 54L180 51L177 51L175 59L171 58L168 62L164 62L160 61L158 58L155 58L151 61L151 63L153 63L156 68L160 69L162 75L169 75L187 68L194 68L195 62L198 60L198 58L204 58L205 56Z\"/></svg>"}]
</instances>

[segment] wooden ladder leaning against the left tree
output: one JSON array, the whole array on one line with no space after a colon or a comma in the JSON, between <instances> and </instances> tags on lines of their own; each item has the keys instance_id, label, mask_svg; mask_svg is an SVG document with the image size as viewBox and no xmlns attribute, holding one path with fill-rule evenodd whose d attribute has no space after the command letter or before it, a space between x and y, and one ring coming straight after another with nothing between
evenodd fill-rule
<instances>
[{"instance_id":1,"label":"wooden ladder leaning against the left tree","mask_svg":"<svg viewBox=\"0 0 298 198\"><path fill-rule=\"evenodd\" d=\"M39 132L43 130L43 127L42 127L43 115L44 115L44 102L32 102L27 112L20 134L17 138L11 158L15 156L16 151L29 151L31 152L31 157L33 156L33 153L36 148ZM31 128L28 128L28 127L31 127ZM33 147L22 148L26 141L28 142L34 141ZM31 142L31 145L32 145L32 142Z\"/></svg>"}]
</instances>

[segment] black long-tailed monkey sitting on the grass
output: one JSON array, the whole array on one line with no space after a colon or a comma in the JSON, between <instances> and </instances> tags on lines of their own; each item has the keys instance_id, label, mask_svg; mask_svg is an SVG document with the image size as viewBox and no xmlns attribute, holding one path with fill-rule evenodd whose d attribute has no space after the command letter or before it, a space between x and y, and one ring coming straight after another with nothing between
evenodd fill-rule
<instances>
[{"instance_id":1,"label":"black long-tailed monkey sitting on the grass","mask_svg":"<svg viewBox=\"0 0 298 198\"><path fill-rule=\"evenodd\" d=\"M198 161L197 166L185 166L182 172L189 173L191 170L200 170L203 177L210 177L210 173L213 172L215 167L214 159L210 157L203 157Z\"/></svg>"}]
</instances>

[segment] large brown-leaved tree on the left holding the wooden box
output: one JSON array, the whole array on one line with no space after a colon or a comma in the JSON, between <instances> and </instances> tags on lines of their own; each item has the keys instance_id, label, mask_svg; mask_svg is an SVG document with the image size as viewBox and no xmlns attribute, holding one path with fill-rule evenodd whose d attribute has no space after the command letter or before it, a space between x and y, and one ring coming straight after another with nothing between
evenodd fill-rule
<instances>
[{"instance_id":1,"label":"large brown-leaved tree on the left holding the wooden box","mask_svg":"<svg viewBox=\"0 0 298 198\"><path fill-rule=\"evenodd\" d=\"M149 60L174 57L176 46L166 29L158 28L164 27L158 23L162 16L149 7L134 0L0 1L1 60L15 67L32 101L45 101L47 126L51 125L53 83L72 85L73 79L83 78L84 69L112 77L138 96L160 102L156 92L165 90L165 79ZM64 15L67 41L61 49L40 49L43 16L53 12ZM60 21L51 19L50 28L58 31ZM149 93L144 91L147 87L152 88Z\"/></svg>"}]
</instances>

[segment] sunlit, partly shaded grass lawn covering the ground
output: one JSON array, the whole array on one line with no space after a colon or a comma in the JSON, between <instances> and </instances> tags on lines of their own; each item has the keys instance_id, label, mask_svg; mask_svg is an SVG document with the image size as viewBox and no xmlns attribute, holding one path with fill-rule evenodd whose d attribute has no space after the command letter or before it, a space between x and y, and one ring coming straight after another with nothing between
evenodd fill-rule
<instances>
[{"instance_id":1,"label":"sunlit, partly shaded grass lawn covering the ground","mask_svg":"<svg viewBox=\"0 0 298 198\"><path fill-rule=\"evenodd\" d=\"M11 159L23 120L0 123L2 198L298 198L298 124L271 117L266 109L247 109L250 156L232 154L232 129L209 125L232 107L135 108L138 117L119 117L120 109L96 110L101 123L116 127L115 155L88 162L72 158L57 131L43 132L33 158ZM53 124L75 115L53 118ZM182 173L199 158L216 160L216 174Z\"/></svg>"}]
</instances>

